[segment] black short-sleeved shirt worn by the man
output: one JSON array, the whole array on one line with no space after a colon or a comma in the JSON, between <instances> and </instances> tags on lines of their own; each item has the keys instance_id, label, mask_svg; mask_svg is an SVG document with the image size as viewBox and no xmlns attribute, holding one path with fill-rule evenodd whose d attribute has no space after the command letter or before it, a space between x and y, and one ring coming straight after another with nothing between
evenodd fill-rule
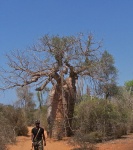
<instances>
[{"instance_id":1,"label":"black short-sleeved shirt worn by the man","mask_svg":"<svg viewBox=\"0 0 133 150\"><path fill-rule=\"evenodd\" d=\"M38 132L39 129L40 129L40 131ZM43 129L43 128L41 128L41 127L39 127L39 128L34 127L34 128L31 130L31 132L32 132L33 135L34 135L33 140L35 139L37 133L38 133L38 135L37 135L37 137L36 137L36 140L37 140L37 141L42 140L42 137L43 137L43 134L44 134L44 129Z\"/></svg>"}]
</instances>

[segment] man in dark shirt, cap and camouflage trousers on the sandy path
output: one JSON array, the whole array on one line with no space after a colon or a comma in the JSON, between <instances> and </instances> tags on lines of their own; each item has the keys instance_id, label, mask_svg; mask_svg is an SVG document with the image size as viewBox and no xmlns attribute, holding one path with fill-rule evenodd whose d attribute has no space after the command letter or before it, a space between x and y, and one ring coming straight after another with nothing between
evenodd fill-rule
<instances>
[{"instance_id":1,"label":"man in dark shirt, cap and camouflage trousers on the sandy path","mask_svg":"<svg viewBox=\"0 0 133 150\"><path fill-rule=\"evenodd\" d=\"M35 121L35 127L31 130L32 148L34 150L43 150L43 145L46 146L46 138L44 129L40 127L40 121Z\"/></svg>"}]
</instances>

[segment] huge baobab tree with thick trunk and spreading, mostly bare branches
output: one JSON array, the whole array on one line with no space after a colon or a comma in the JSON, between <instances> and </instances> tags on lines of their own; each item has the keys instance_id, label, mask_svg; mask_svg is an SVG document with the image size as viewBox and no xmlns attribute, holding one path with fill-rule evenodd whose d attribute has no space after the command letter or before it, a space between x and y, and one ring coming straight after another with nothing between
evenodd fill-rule
<instances>
[{"instance_id":1,"label":"huge baobab tree with thick trunk and spreading, mostly bare branches","mask_svg":"<svg viewBox=\"0 0 133 150\"><path fill-rule=\"evenodd\" d=\"M105 81L100 48L92 35L45 35L29 50L7 55L9 69L3 69L1 89L31 84L42 91L52 85L48 116L52 136L70 136L78 77L90 79L95 87Z\"/></svg>"}]
</instances>

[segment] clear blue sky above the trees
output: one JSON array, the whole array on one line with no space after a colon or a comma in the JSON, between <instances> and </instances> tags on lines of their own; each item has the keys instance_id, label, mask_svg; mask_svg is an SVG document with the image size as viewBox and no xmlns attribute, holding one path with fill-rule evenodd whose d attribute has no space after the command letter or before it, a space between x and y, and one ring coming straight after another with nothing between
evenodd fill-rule
<instances>
[{"instance_id":1,"label":"clear blue sky above the trees","mask_svg":"<svg viewBox=\"0 0 133 150\"><path fill-rule=\"evenodd\" d=\"M44 34L92 33L115 59L118 85L133 79L132 0L0 0L0 64L5 53L26 49ZM15 93L0 95L11 103ZM10 98L10 99L9 99Z\"/></svg>"}]
</instances>

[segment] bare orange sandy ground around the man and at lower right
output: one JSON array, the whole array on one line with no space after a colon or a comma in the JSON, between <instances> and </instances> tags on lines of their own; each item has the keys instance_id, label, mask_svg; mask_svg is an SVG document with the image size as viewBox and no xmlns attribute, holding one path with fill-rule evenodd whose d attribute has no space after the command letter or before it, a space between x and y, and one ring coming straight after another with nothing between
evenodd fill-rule
<instances>
[{"instance_id":1,"label":"bare orange sandy ground around the man and at lower right","mask_svg":"<svg viewBox=\"0 0 133 150\"><path fill-rule=\"evenodd\" d=\"M16 144L8 145L8 150L32 150L30 130L31 128L29 128L29 134L27 137L17 137ZM67 140L54 141L47 138L46 141L47 145L45 146L45 150L72 150L74 148L67 143ZM133 134L125 136L121 139L97 144L96 147L97 150L133 150Z\"/></svg>"}]
</instances>

